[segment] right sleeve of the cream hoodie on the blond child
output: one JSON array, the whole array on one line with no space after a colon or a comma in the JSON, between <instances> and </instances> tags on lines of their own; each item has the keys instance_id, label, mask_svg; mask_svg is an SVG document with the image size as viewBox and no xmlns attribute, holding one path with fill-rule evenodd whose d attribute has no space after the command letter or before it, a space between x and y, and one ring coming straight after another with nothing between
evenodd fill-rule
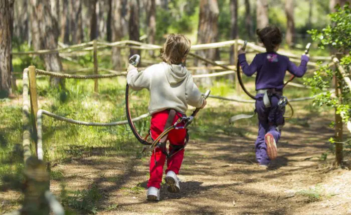
<instances>
[{"instance_id":1,"label":"right sleeve of the cream hoodie on the blond child","mask_svg":"<svg viewBox=\"0 0 351 215\"><path fill-rule=\"evenodd\" d=\"M189 74L187 79L187 85L185 89L185 96L187 103L194 107L201 107L204 103L204 98L198 88L194 83L193 75Z\"/></svg>"}]
</instances>

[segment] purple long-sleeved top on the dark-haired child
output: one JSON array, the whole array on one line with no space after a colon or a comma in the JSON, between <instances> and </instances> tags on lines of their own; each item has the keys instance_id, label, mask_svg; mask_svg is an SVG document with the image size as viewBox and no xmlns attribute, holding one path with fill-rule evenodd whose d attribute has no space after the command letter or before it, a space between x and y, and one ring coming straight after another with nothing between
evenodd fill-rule
<instances>
[{"instance_id":1,"label":"purple long-sleeved top on the dark-haired child","mask_svg":"<svg viewBox=\"0 0 351 215\"><path fill-rule=\"evenodd\" d=\"M246 61L245 54L239 54L239 63L243 72L247 76L252 76L257 72L256 90L284 87L285 72L289 71L296 77L302 77L307 70L309 58L306 55L301 56L301 64L296 66L287 56L280 55L276 52L265 52L256 54L252 63Z\"/></svg>"}]
</instances>

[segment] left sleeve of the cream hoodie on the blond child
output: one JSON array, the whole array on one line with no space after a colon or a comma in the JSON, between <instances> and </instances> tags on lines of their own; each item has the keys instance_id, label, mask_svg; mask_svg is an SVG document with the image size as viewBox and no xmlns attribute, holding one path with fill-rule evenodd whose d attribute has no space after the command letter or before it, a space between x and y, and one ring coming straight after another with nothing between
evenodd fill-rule
<instances>
[{"instance_id":1,"label":"left sleeve of the cream hoodie on the blond child","mask_svg":"<svg viewBox=\"0 0 351 215\"><path fill-rule=\"evenodd\" d=\"M132 69L127 74L127 83L134 90L140 90L143 88L150 89L151 76L149 68L138 72L138 70Z\"/></svg>"}]
</instances>

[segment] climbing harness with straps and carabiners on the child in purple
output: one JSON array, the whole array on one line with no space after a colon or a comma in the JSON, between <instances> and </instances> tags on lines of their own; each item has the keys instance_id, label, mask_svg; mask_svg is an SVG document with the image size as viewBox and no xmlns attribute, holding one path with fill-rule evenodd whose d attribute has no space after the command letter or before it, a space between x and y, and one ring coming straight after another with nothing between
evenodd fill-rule
<instances>
[{"instance_id":1,"label":"climbing harness with straps and carabiners on the child in purple","mask_svg":"<svg viewBox=\"0 0 351 215\"><path fill-rule=\"evenodd\" d=\"M244 41L244 45L243 45L243 47L242 47L243 50L245 50L246 45L247 45L247 40ZM311 43L307 43L306 49L305 49L305 54L308 54L310 47L311 47ZM244 84L244 82L243 82L243 78L242 78L241 72L240 72L240 62L239 62L239 60L238 60L238 63L237 63L237 77L238 77L239 84L240 84L241 88L244 90L244 92L245 92L249 97L251 97L252 99L257 100L257 98L256 98L253 94L251 94L251 93L246 89L246 87L245 87L245 84ZM283 87L285 87L285 86L286 86L290 81L292 81L294 78L295 78L295 76L292 75L291 78L290 78L288 81L286 81L286 82L284 83L284 86L283 86ZM273 93L272 93L272 90L273 90ZM276 93L276 92L275 92L275 89L259 89L259 90L257 90L257 93L258 93L258 94L264 94L264 95L263 95L263 102L264 102L264 105L265 105L265 107L270 107L270 106L271 106L270 97L271 97L273 94ZM278 93L278 94L279 94L279 93ZM281 108L281 109L285 108L286 105L288 105L288 106L290 107L290 109L291 109L291 115L288 116L288 117L284 116L284 119L290 119L290 118L292 118L292 116L294 115L294 109L292 108L291 104L289 103L287 97L286 97L286 96L280 95L279 103L280 103L280 108ZM284 105L284 106L283 106L283 105ZM235 115L235 116L233 116L233 117L231 117L231 118L229 119L229 123L233 123L234 121L239 120L239 119L243 119L243 118L251 118L251 117L253 117L255 114L256 114L256 110L254 110L254 113L253 113L253 114L250 114L250 115L248 115L248 114L239 114L239 115Z\"/></svg>"}]
</instances>

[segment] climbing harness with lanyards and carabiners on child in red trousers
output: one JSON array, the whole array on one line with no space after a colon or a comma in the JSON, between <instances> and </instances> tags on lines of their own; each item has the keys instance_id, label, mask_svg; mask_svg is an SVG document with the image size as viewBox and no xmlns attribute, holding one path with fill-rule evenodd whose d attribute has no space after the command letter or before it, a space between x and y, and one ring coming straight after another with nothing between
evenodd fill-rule
<instances>
[{"instance_id":1,"label":"climbing harness with lanyards and carabiners on child in red trousers","mask_svg":"<svg viewBox=\"0 0 351 215\"><path fill-rule=\"evenodd\" d=\"M133 66L137 66L139 61L140 61L140 56L138 54L134 54L133 56L131 56L129 58L129 62ZM211 93L211 90L207 90L206 93L203 95L204 99L207 99L207 97L210 95L210 93ZM133 134L137 138L137 140L141 144L145 145L142 152L147 152L147 151L155 150L156 147L165 148L165 143L166 143L169 131L171 131L173 129L187 129L187 127L193 122L196 114L199 112L199 110L201 108L196 108L193 111L192 115L189 117L181 115L179 117L179 119L173 124L172 124L172 122L173 122L173 119L175 117L175 114L177 114L177 112L174 109L169 109L168 110L169 114L168 114L166 124L164 126L164 130L155 139L152 139L150 130L149 130L148 134L146 135L146 137L142 138L141 135L136 130L136 127L134 126L134 123L133 123L131 115L130 115L130 110L129 110L129 85L128 85L128 83L127 83L126 88L125 88L125 109L126 109L128 124L130 126L131 131L133 132ZM147 141L147 137L149 137L149 136L151 137L152 142ZM170 158L175 153L178 153L183 148L185 148L188 141L189 141L189 135L188 135L188 129L187 129L186 141L185 141L184 145L177 146L177 145L171 144L171 146L173 147L173 150L167 152L166 150L162 149L162 152L167 156L167 158ZM156 159L155 159L155 161L156 161Z\"/></svg>"}]
</instances>

